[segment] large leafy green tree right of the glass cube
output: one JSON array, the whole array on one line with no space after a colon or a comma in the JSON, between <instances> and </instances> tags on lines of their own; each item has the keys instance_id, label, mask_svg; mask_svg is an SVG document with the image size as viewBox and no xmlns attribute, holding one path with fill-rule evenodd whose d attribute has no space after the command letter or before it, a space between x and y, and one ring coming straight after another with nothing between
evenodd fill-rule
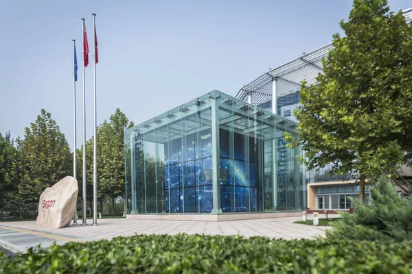
<instances>
[{"instance_id":1,"label":"large leafy green tree right of the glass cube","mask_svg":"<svg viewBox=\"0 0 412 274\"><path fill-rule=\"evenodd\" d=\"M366 179L410 161L412 151L412 27L385 0L354 0L345 37L334 34L323 74L301 86L293 145L308 169L332 164L334 174Z\"/></svg>"}]
</instances>

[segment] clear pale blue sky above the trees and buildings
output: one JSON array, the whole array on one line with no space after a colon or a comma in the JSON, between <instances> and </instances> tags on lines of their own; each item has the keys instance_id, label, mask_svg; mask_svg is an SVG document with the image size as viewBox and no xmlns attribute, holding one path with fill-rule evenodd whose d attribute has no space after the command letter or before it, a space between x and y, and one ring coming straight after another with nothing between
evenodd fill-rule
<instances>
[{"instance_id":1,"label":"clear pale blue sky above the trees and buildings","mask_svg":"<svg viewBox=\"0 0 412 274\"><path fill-rule=\"evenodd\" d=\"M391 10L410 0L389 0ZM24 136L44 108L73 149L72 39L78 53L77 147L82 142L82 21L93 51L98 125L119 108L135 123L211 90L244 84L339 32L350 0L0 1L0 132ZM93 136L93 66L86 68L87 139Z\"/></svg>"}]
</instances>

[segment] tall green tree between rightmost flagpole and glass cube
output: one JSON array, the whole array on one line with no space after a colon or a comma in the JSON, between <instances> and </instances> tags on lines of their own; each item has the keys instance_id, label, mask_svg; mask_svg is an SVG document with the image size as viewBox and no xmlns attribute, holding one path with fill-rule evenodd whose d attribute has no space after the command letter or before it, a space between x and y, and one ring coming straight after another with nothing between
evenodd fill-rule
<instances>
[{"instance_id":1,"label":"tall green tree between rightmost flagpole and glass cube","mask_svg":"<svg viewBox=\"0 0 412 274\"><path fill-rule=\"evenodd\" d=\"M125 195L124 129L133 126L126 115L116 109L98 128L98 178L104 196L110 197L115 214L115 199Z\"/></svg>"}]
</instances>

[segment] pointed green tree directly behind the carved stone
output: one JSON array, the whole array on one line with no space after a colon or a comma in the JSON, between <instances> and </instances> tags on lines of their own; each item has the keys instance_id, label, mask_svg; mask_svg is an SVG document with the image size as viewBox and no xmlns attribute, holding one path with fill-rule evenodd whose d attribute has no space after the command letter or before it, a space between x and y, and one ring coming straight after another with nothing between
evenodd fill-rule
<instances>
[{"instance_id":1,"label":"pointed green tree directly behind the carved stone","mask_svg":"<svg viewBox=\"0 0 412 274\"><path fill-rule=\"evenodd\" d=\"M24 139L16 140L21 164L19 196L24 203L38 201L45 188L72 174L72 158L65 134L52 114L41 110L36 121L25 128Z\"/></svg>"}]
</instances>

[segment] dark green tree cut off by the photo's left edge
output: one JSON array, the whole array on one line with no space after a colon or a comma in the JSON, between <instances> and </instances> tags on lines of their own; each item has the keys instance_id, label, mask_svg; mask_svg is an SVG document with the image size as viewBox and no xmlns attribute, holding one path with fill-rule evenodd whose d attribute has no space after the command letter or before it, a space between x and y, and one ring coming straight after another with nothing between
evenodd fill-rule
<instances>
[{"instance_id":1,"label":"dark green tree cut off by the photo's left edge","mask_svg":"<svg viewBox=\"0 0 412 274\"><path fill-rule=\"evenodd\" d=\"M0 133L0 215L13 203L18 183L17 149L10 132L5 136Z\"/></svg>"}]
</instances>

